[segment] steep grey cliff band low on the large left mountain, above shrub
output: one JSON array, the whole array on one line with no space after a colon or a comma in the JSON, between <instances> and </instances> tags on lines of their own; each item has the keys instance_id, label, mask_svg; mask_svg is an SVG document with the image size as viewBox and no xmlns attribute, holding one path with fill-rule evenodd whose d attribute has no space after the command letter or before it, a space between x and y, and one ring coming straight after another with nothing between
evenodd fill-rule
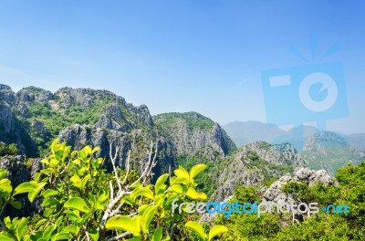
<instances>
[{"instance_id":1,"label":"steep grey cliff band low on the large left mountain, above shrub","mask_svg":"<svg viewBox=\"0 0 365 241\"><path fill-rule=\"evenodd\" d=\"M105 130L92 126L80 126L78 124L72 125L67 129L59 132L59 141L66 141L69 145L72 145L75 149L79 150L85 145L99 146L100 150L97 152L97 156L110 157L110 151L114 154L117 146L120 147L117 153L116 166L124 169L126 167L126 160L128 152L130 154L130 168L137 169L140 172L143 171L149 160L149 152L146 150L149 148L146 144L149 143L147 137L141 130L133 130L130 133L115 130ZM153 169L155 173L154 179L175 167L173 162L173 154L171 146L163 139L157 141L159 145L158 164ZM111 149L110 149L111 148ZM109 160L109 159L107 159ZM108 170L112 170L110 160L104 162Z\"/></svg>"}]
</instances>

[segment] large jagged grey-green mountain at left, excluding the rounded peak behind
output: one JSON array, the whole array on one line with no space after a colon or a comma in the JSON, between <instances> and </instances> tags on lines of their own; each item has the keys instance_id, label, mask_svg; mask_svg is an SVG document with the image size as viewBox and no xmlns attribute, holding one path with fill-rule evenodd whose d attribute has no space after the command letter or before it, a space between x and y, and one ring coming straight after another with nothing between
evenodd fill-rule
<instances>
[{"instance_id":1,"label":"large jagged grey-green mountain at left, excluding the rounded peak behind","mask_svg":"<svg viewBox=\"0 0 365 241\"><path fill-rule=\"evenodd\" d=\"M51 93L28 87L14 93L2 85L0 96L0 141L16 142L27 156L44 155L49 142L59 137L76 148L98 145L99 154L104 156L108 156L110 144L113 150L120 145L124 152L120 154L122 166L121 160L132 145L130 140L137 141L136 148L141 151L156 138L145 105L135 107L107 90L62 88ZM161 140L159 143L166 146ZM170 162L166 157L160 163L168 166Z\"/></svg>"}]
</instances>

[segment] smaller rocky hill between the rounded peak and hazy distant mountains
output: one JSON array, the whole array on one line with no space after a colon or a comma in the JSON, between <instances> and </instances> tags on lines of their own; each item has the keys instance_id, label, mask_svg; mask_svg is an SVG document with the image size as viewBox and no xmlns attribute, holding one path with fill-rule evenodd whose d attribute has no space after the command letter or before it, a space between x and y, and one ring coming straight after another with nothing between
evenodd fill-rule
<instances>
[{"instance_id":1,"label":"smaller rocky hill between the rounded peak and hazy distant mountains","mask_svg":"<svg viewBox=\"0 0 365 241\"><path fill-rule=\"evenodd\" d=\"M264 141L246 144L220 163L215 180L218 188L211 199L223 201L237 185L266 185L306 165L290 144L272 145Z\"/></svg>"}]
</instances>

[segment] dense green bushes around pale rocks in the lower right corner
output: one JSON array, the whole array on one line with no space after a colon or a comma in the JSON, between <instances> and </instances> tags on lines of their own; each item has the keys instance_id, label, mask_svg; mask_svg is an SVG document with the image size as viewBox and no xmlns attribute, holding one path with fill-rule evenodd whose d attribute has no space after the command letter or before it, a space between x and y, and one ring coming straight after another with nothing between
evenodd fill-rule
<instances>
[{"instance_id":1,"label":"dense green bushes around pale rocks in the lower right corner","mask_svg":"<svg viewBox=\"0 0 365 241\"><path fill-rule=\"evenodd\" d=\"M301 202L318 202L319 207L347 204L349 214L319 212L300 223L293 223L290 214L220 215L215 223L228 227L224 240L365 240L365 162L340 168L336 178L338 186L287 183L282 190ZM252 203L261 198L254 187L241 186L232 201Z\"/></svg>"}]
</instances>

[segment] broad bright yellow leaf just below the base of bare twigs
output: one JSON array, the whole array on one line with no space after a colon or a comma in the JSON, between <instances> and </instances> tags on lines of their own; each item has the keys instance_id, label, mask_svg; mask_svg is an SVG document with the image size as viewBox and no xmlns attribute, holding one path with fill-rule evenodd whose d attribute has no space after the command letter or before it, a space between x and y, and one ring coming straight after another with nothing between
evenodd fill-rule
<instances>
[{"instance_id":1,"label":"broad bright yellow leaf just below the base of bare twigs","mask_svg":"<svg viewBox=\"0 0 365 241\"><path fill-rule=\"evenodd\" d=\"M141 236L141 216L131 218L125 215L110 217L105 224L107 229L121 229L130 231L133 236Z\"/></svg>"}]
</instances>

